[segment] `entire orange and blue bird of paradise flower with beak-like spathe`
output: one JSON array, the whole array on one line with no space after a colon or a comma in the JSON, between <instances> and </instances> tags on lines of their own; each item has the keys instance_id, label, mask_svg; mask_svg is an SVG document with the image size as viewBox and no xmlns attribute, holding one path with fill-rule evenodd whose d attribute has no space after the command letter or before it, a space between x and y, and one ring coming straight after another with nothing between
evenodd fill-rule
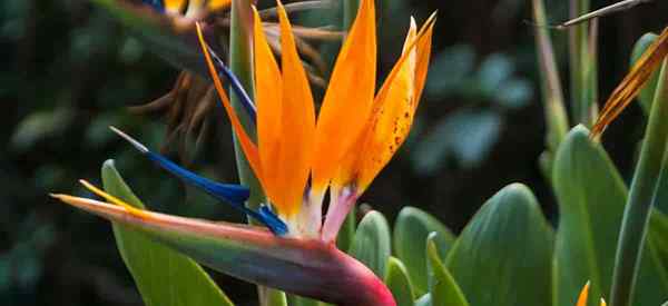
<instances>
[{"instance_id":1,"label":"entire orange and blue bird of paradise flower with beak-like spathe","mask_svg":"<svg viewBox=\"0 0 668 306\"><path fill-rule=\"evenodd\" d=\"M140 210L82 181L107 203L52 195L77 208L125 224L195 260L252 283L338 305L395 305L385 285L333 244L345 215L405 140L426 78L432 14L419 30L411 20L403 52L380 91L373 0L363 0L338 53L320 113L285 8L277 7L282 57L278 66L254 10L256 103L198 38L234 132L267 195L258 210L246 208L248 189L199 177L115 129L140 152L186 182L261 221L255 226L212 223ZM244 97L257 128L248 137L229 105L218 69ZM323 223L322 204L331 203ZM283 276L289 275L285 282ZM355 294L351 294L351 293Z\"/></svg>"}]
</instances>

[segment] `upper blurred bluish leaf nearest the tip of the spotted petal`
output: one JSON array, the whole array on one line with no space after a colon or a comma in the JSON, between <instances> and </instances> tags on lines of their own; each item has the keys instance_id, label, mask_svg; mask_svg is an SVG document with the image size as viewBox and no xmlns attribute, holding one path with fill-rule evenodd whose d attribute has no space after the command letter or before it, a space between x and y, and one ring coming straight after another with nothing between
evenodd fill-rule
<instances>
[{"instance_id":1,"label":"upper blurred bluish leaf nearest the tip of the spotted petal","mask_svg":"<svg viewBox=\"0 0 668 306\"><path fill-rule=\"evenodd\" d=\"M471 46L453 46L434 56L429 68L425 91L432 97L458 92L473 71L475 53Z\"/></svg>"}]
</instances>

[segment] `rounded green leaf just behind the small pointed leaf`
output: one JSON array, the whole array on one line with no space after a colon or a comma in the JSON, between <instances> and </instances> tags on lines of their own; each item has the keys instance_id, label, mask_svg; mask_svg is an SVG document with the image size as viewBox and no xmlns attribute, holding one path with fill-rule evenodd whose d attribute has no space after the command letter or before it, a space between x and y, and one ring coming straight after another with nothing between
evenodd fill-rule
<instances>
[{"instance_id":1,"label":"rounded green leaf just behind the small pointed leaf","mask_svg":"<svg viewBox=\"0 0 668 306\"><path fill-rule=\"evenodd\" d=\"M419 208L406 206L399 213L394 224L394 251L406 265L418 295L425 294L429 288L426 254L415 250L426 249L426 238L432 231L438 233L435 244L444 259L454 243L454 235L439 219Z\"/></svg>"}]
</instances>

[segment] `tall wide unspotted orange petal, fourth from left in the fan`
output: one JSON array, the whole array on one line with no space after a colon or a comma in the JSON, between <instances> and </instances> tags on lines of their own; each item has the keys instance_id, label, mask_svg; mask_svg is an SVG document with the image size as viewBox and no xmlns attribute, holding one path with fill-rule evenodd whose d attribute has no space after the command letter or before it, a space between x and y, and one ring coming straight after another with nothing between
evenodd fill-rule
<instances>
[{"instance_id":1,"label":"tall wide unspotted orange petal, fourth from left in the fan","mask_svg":"<svg viewBox=\"0 0 668 306\"><path fill-rule=\"evenodd\" d=\"M373 103L376 73L375 8L362 0L341 48L317 119L313 188L322 190L363 131Z\"/></svg>"}]
</instances>

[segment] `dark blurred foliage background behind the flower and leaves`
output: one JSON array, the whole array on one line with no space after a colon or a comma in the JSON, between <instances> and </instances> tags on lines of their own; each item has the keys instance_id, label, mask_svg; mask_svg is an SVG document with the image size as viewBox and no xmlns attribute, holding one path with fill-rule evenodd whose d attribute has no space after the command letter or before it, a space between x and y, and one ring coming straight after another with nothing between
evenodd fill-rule
<instances>
[{"instance_id":1,"label":"dark blurred foliage background behind the flower and leaves","mask_svg":"<svg viewBox=\"0 0 668 306\"><path fill-rule=\"evenodd\" d=\"M551 21L567 18L567 2L547 0ZM592 2L598 8L612 1ZM439 10L439 21L412 136L363 201L390 220L402 206L416 206L459 233L487 198L520 181L533 189L554 221L553 195L538 167L544 119L533 28L523 22L531 18L530 1L384 3L381 80L397 57L409 13L422 22ZM628 69L633 42L667 24L666 12L668 2L656 0L601 20L601 97ZM297 17L306 24L317 19ZM553 32L553 38L568 88L567 37ZM167 92L178 70L145 50L104 11L76 0L1 1L0 67L1 305L141 305L109 225L48 197L50 191L88 195L77 179L99 182L99 167L108 158L117 159L136 193L156 210L242 220L184 189L108 131L109 125L119 126L160 147L165 120L126 107ZM627 177L642 121L633 106L606 134L605 145ZM205 145L185 160L200 174L235 181L227 120L217 117L214 127ZM173 147L165 151L183 158ZM215 277L238 305L254 305L253 286Z\"/></svg>"}]
</instances>

